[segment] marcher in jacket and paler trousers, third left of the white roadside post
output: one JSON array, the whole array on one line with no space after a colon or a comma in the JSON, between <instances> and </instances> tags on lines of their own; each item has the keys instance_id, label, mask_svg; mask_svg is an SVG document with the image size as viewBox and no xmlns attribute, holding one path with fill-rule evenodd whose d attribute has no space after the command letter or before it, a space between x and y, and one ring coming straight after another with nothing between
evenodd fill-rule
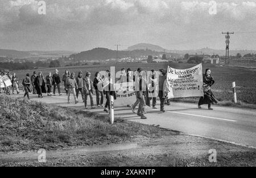
<instances>
[{"instance_id":1,"label":"marcher in jacket and paler trousers, third left of the white roadside post","mask_svg":"<svg viewBox=\"0 0 256 178\"><path fill-rule=\"evenodd\" d=\"M96 107L93 106L93 90L92 90L92 80L90 79L90 72L86 72L84 77L84 106L85 109L88 109L87 107L87 97L89 95L90 97L90 108L95 109Z\"/></svg>"}]
</instances>

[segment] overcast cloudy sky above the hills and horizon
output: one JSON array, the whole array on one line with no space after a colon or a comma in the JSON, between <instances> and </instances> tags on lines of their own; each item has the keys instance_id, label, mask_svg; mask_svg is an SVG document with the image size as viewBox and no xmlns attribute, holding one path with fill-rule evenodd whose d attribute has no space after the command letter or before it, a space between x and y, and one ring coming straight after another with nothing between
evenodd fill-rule
<instances>
[{"instance_id":1,"label":"overcast cloudy sky above the hills and horizon","mask_svg":"<svg viewBox=\"0 0 256 178\"><path fill-rule=\"evenodd\" d=\"M0 0L0 48L85 51L151 43L166 49L256 49L256 1ZM238 33L236 33L238 32Z\"/></svg>"}]
</instances>

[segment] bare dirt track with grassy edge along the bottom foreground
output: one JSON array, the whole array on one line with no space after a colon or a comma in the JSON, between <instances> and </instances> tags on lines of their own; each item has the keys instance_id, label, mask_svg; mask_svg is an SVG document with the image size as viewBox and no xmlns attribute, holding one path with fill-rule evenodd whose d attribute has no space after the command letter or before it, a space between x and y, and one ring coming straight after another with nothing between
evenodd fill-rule
<instances>
[{"instance_id":1,"label":"bare dirt track with grassy edge along the bottom foreground","mask_svg":"<svg viewBox=\"0 0 256 178\"><path fill-rule=\"evenodd\" d=\"M68 150L46 151L46 162L38 152L0 154L2 166L237 166L256 165L256 150L183 134L157 139L142 136L134 142ZM217 163L209 162L209 150L217 152Z\"/></svg>"}]
</instances>

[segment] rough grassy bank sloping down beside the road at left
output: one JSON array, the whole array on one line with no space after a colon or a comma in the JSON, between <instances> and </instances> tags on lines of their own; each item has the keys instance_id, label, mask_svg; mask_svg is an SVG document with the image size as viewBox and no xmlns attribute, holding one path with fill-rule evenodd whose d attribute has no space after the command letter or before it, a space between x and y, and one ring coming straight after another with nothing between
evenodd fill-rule
<instances>
[{"instance_id":1,"label":"rough grassy bank sloping down beside the road at left","mask_svg":"<svg viewBox=\"0 0 256 178\"><path fill-rule=\"evenodd\" d=\"M0 95L0 151L56 150L70 146L109 144L134 135L154 138L163 129L106 115Z\"/></svg>"}]
</instances>

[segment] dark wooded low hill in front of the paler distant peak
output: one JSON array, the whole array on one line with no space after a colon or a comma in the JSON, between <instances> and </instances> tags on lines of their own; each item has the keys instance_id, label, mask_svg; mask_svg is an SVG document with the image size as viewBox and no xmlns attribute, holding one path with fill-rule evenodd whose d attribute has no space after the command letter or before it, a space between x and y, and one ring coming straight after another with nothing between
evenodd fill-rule
<instances>
[{"instance_id":1,"label":"dark wooded low hill in front of the paler distant peak","mask_svg":"<svg viewBox=\"0 0 256 178\"><path fill-rule=\"evenodd\" d=\"M117 51L107 49L107 48L94 48L89 51L82 51L80 53L77 53L75 55L75 59L79 60L107 60L107 59L115 59L116 58ZM159 56L163 55L163 52L158 51L152 51L150 49L135 49L132 51L118 51L118 59L119 58L125 58L125 57L141 57L141 56ZM171 56L179 56L175 53L166 53L166 55ZM73 57L71 55L70 57Z\"/></svg>"}]
</instances>

